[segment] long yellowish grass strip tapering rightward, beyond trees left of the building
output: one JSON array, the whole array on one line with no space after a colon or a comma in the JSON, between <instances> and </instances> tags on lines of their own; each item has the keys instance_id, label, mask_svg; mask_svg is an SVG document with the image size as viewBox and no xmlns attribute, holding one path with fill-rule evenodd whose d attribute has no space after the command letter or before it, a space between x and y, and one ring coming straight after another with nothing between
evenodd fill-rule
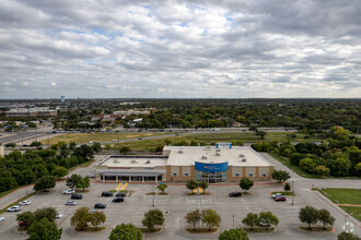
<instances>
[{"instance_id":1,"label":"long yellowish grass strip tapering rightward, beyond trees left of the building","mask_svg":"<svg viewBox=\"0 0 361 240\"><path fill-rule=\"evenodd\" d=\"M154 135L167 135L174 134L174 132L129 132L129 133L69 133L57 135L50 139L50 144L56 144L60 141L66 143L89 143L92 142L112 142L113 140L129 140ZM43 144L48 144L47 140L42 142Z\"/></svg>"}]
</instances>

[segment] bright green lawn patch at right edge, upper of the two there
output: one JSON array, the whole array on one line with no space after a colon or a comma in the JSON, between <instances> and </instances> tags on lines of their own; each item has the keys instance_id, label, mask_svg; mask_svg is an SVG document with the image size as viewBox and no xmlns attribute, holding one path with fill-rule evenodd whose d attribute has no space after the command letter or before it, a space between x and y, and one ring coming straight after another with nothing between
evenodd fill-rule
<instances>
[{"instance_id":1,"label":"bright green lawn patch at right edge, upper of the two there","mask_svg":"<svg viewBox=\"0 0 361 240\"><path fill-rule=\"evenodd\" d=\"M327 196L330 201L341 204L358 204L361 205L361 189L321 189L321 193Z\"/></svg>"}]
</instances>

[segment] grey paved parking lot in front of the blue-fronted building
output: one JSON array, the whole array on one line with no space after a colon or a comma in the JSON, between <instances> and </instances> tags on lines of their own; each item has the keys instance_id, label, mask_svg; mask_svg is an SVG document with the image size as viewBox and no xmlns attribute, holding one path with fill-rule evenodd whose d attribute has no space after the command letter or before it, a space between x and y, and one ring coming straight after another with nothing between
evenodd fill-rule
<instances>
[{"instance_id":1,"label":"grey paved parking lot in front of the blue-fronted building","mask_svg":"<svg viewBox=\"0 0 361 240\"><path fill-rule=\"evenodd\" d=\"M97 159L100 160L100 159ZM94 165L88 168L79 168L73 173L85 176L93 172ZM312 180L312 182L316 182ZM345 187L356 184L354 181L337 181ZM311 185L308 180L299 179L296 182L298 194L294 197L294 205L291 204L291 197L286 202L275 202L270 197L270 192L281 191L282 184L259 183L252 188L249 195L243 194L242 197L229 197L228 194L233 191L241 191L237 184L222 184L210 185L206 190L209 195L201 195L199 200L195 195L187 195L190 191L184 184L168 185L166 192L170 195L156 195L154 197L154 205L165 214L164 230L161 233L147 235L145 239L216 239L218 233L212 235L190 235L184 229L190 227L186 225L185 215L189 211L194 211L200 206L201 209L212 208L221 216L220 231L230 229L234 226L241 227L242 219L248 213L259 213L263 211L270 211L278 216L280 223L277 226L277 231L272 233L252 233L251 239L336 239L336 236L341 231L343 215L338 211L338 207L325 202L317 193L310 191ZM317 183L316 183L317 184ZM321 184L321 183L319 183ZM334 181L327 180L324 184L334 185ZM35 211L42 207L55 207L58 213L63 216L57 219L57 224L62 228L62 239L107 239L112 229L121 223L132 223L138 227L142 227L141 220L145 212L152 208L153 196L145 195L147 192L153 191L153 184L150 183L129 183L127 185L130 195L125 199L124 203L112 203L112 197L102 197L103 191L114 190L118 183L96 183L92 182L89 192L81 192L83 200L75 200L77 206L66 206L67 200L70 195L62 194L62 190L67 189L65 182L58 182L56 188L50 192L37 193L30 197L32 205L24 206L21 212ZM343 188L345 188L343 187ZM19 193L13 193L19 194ZM103 226L106 230L97 233L82 233L75 232L70 226L70 218L77 208L86 206L93 208L95 203L107 204L104 213L106 214L106 221ZM335 232L329 233L313 233L305 232L299 229L304 226L299 220L299 209L305 205L313 205L316 208L327 208L336 217ZM26 239L26 235L20 235L16 229L16 214L4 213L1 216L5 217L3 223L0 223L0 239ZM356 229L359 231L359 229Z\"/></svg>"}]
</instances>

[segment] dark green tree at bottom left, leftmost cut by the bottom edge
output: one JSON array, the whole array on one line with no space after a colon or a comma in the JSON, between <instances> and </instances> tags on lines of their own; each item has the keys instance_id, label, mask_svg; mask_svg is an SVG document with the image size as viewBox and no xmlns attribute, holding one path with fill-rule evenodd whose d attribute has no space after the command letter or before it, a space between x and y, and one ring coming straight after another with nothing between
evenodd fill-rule
<instances>
[{"instance_id":1,"label":"dark green tree at bottom left, leftmost cut by the bottom edge","mask_svg":"<svg viewBox=\"0 0 361 240\"><path fill-rule=\"evenodd\" d=\"M27 240L59 240L62 229L58 229L55 223L43 218L35 221L26 231L30 236Z\"/></svg>"}]
</instances>

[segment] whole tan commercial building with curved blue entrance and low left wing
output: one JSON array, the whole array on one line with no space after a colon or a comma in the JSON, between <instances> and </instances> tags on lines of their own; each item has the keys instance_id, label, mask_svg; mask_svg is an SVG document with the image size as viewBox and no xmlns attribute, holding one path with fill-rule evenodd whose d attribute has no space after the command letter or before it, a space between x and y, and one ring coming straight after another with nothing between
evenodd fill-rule
<instances>
[{"instance_id":1,"label":"whole tan commercial building with curved blue entrance and low left wing","mask_svg":"<svg viewBox=\"0 0 361 240\"><path fill-rule=\"evenodd\" d=\"M195 179L209 183L238 181L243 177L269 180L275 166L246 146L165 146L163 155L108 156L96 165L102 181L168 181Z\"/></svg>"}]
</instances>

